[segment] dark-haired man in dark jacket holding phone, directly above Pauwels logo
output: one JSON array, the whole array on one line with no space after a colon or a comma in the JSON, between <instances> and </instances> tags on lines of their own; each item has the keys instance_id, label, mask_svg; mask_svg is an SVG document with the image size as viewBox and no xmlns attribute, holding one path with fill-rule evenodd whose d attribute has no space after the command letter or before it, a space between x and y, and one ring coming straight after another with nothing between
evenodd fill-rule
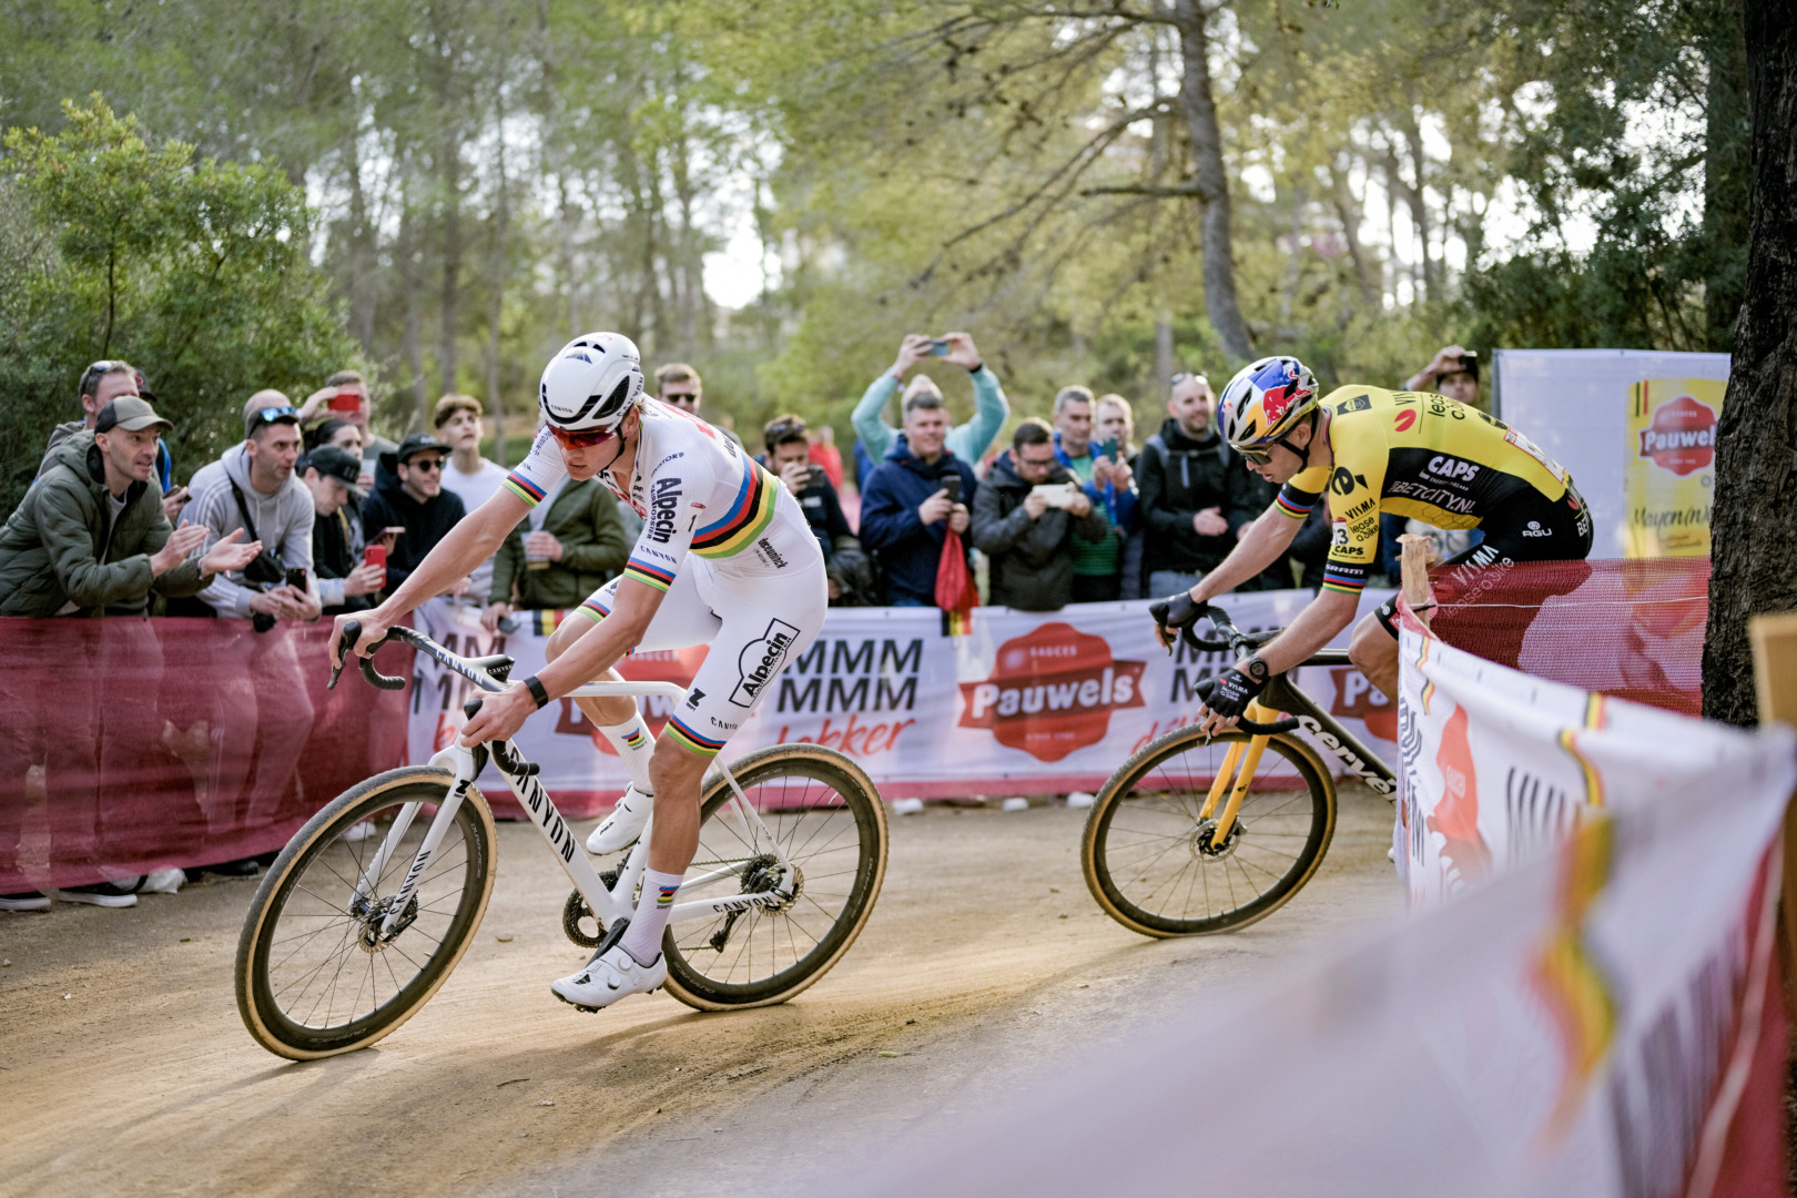
<instances>
[{"instance_id":1,"label":"dark-haired man in dark jacket holding phone, directly above Pauwels logo","mask_svg":"<svg viewBox=\"0 0 1797 1198\"><path fill-rule=\"evenodd\" d=\"M1069 487L1069 483L1073 483ZM1060 487L1049 503L1037 487ZM1073 471L1055 458L1055 431L1035 417L1017 426L974 492L974 548L992 559L992 603L1058 611L1073 600L1073 539L1103 541L1111 524Z\"/></svg>"}]
</instances>

